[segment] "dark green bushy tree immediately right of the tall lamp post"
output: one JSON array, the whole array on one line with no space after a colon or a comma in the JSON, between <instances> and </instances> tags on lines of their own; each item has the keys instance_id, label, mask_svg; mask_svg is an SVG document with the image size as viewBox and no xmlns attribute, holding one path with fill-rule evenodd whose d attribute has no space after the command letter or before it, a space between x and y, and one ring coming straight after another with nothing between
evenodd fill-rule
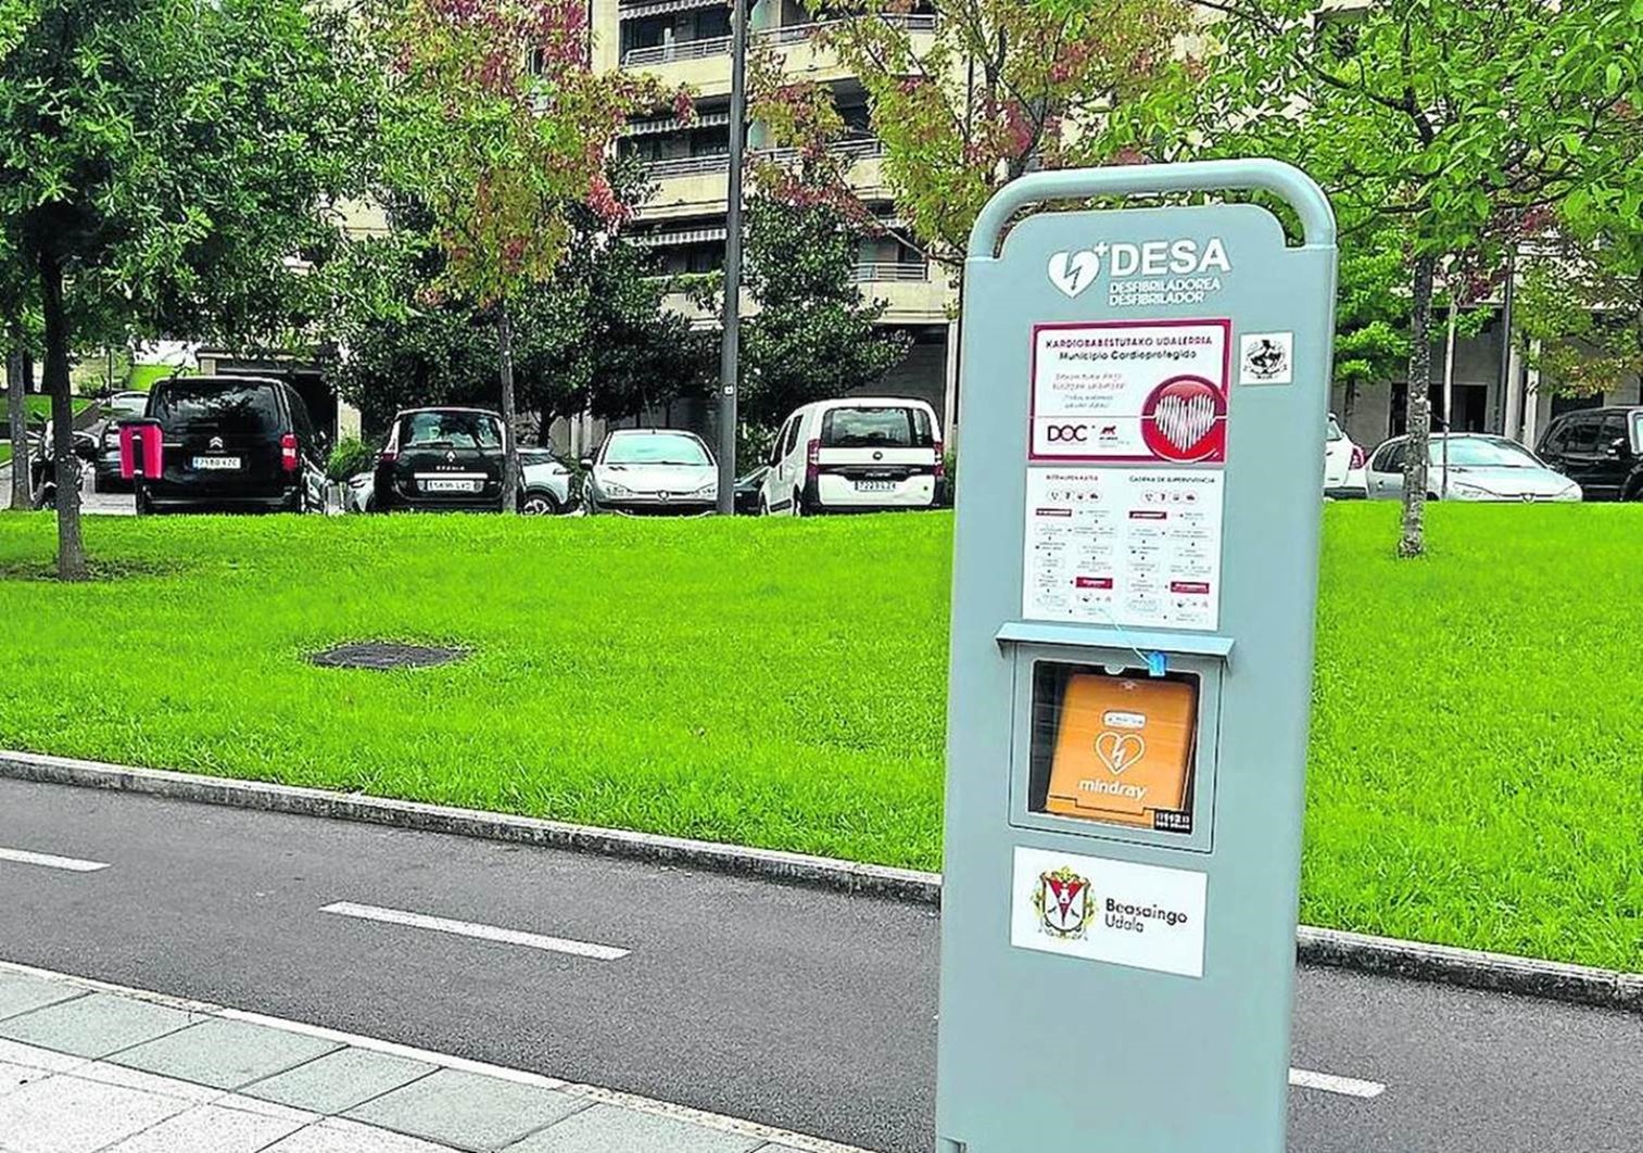
<instances>
[{"instance_id":1,"label":"dark green bushy tree immediately right of the tall lamp post","mask_svg":"<svg viewBox=\"0 0 1643 1153\"><path fill-rule=\"evenodd\" d=\"M882 301L854 283L863 227L830 204L756 197L748 209L744 284L757 315L741 328L739 411L774 427L800 404L874 383L909 340L877 327Z\"/></svg>"}]
</instances>

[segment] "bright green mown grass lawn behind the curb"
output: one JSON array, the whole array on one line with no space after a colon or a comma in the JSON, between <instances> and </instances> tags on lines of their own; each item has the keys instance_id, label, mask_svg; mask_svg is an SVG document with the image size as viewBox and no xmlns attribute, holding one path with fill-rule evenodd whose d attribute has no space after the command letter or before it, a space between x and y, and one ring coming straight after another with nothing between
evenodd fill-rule
<instances>
[{"instance_id":1,"label":"bright green mown grass lawn behind the curb","mask_svg":"<svg viewBox=\"0 0 1643 1153\"><path fill-rule=\"evenodd\" d=\"M1395 514L1326 509L1305 920L1643 971L1643 508ZM51 531L0 746L940 867L945 514L92 517L76 588ZM301 659L363 637L473 657Z\"/></svg>"}]
</instances>

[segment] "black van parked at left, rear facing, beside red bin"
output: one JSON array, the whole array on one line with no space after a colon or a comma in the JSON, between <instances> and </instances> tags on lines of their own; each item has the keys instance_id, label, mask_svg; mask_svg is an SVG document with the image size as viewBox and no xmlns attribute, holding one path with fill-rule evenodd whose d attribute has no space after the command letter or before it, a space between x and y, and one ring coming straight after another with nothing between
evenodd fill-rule
<instances>
[{"instance_id":1,"label":"black van parked at left, rear facing, beside red bin","mask_svg":"<svg viewBox=\"0 0 1643 1153\"><path fill-rule=\"evenodd\" d=\"M320 512L325 445L296 389L261 376L173 376L148 394L161 475L138 512Z\"/></svg>"}]
</instances>

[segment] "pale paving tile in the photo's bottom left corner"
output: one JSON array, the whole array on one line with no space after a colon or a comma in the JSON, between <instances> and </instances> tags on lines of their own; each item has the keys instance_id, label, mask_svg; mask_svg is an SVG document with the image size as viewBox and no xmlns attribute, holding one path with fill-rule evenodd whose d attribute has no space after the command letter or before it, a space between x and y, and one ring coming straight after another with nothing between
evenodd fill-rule
<instances>
[{"instance_id":1,"label":"pale paving tile in the photo's bottom left corner","mask_svg":"<svg viewBox=\"0 0 1643 1153\"><path fill-rule=\"evenodd\" d=\"M58 1076L0 1097L0 1133L28 1153L92 1153L187 1109L176 1097Z\"/></svg>"}]
</instances>

